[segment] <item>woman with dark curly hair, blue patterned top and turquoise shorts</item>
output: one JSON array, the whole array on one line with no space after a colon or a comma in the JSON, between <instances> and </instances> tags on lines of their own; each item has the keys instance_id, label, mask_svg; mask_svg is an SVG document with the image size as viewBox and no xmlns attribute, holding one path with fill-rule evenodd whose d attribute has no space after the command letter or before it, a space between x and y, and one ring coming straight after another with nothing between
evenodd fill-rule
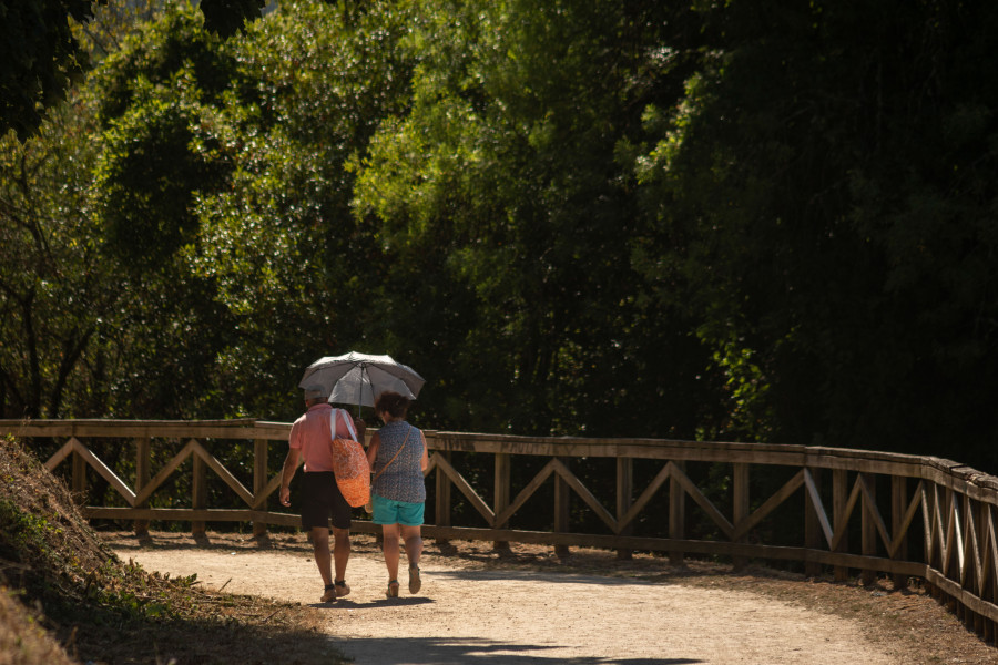
<instances>
[{"instance_id":1,"label":"woman with dark curly hair, blue patterned top and turquoise shorts","mask_svg":"<svg viewBox=\"0 0 998 665\"><path fill-rule=\"evenodd\" d=\"M409 593L422 586L419 556L422 554L426 482L422 472L429 466L426 437L406 422L409 400L397 392L383 392L375 400L375 413L385 423L375 432L367 449L374 479L370 499L371 521L381 525L385 564L388 566L388 597L398 596L399 541L409 559Z\"/></svg>"}]
</instances>

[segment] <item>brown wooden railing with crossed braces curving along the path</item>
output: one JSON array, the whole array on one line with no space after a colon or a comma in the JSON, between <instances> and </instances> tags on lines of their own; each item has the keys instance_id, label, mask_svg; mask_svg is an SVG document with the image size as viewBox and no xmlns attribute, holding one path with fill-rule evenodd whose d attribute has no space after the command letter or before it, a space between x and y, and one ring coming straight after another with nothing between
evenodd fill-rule
<instances>
[{"instance_id":1,"label":"brown wooden railing with crossed braces curving along the path","mask_svg":"<svg viewBox=\"0 0 998 665\"><path fill-rule=\"evenodd\" d=\"M195 533L206 522L253 523L256 533L298 524L298 515L268 509L279 484L271 449L283 460L289 429L254 420L0 421L0 434L55 450L45 461L50 470L71 460L78 495L85 494L88 473L96 473L126 504L85 505L85 516L134 521L140 531L151 520L191 522ZM735 565L794 561L809 573L831 569L838 579L859 571L867 582L877 573L898 584L919 577L985 640L996 638L998 478L970 468L804 446L426 434L429 538L541 543L561 553L570 546L622 556L656 551L675 562L686 554L730 557ZM119 451L123 442L134 446L124 464L132 478L94 452L98 442ZM252 450L252 467L242 460L231 470L220 461L233 442L246 456ZM154 459L165 461L153 470ZM186 473L189 459L191 505L154 507L157 490ZM238 508L207 505L208 470ZM538 523L548 526L517 528ZM377 530L364 519L354 529Z\"/></svg>"}]
</instances>

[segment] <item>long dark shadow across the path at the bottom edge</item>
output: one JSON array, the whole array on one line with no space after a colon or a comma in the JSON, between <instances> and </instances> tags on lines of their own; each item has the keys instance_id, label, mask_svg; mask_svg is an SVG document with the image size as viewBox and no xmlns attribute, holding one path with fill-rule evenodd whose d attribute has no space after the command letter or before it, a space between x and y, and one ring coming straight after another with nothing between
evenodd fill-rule
<instances>
[{"instance_id":1,"label":"long dark shadow across the path at the bottom edge","mask_svg":"<svg viewBox=\"0 0 998 665\"><path fill-rule=\"evenodd\" d=\"M559 663L564 665L692 665L704 663L694 658L613 658L564 657L551 654L539 656L544 649L559 646L509 644L475 637L387 638L363 637L337 641L337 647L357 663L366 665L528 665ZM518 653L522 652L522 653Z\"/></svg>"}]
</instances>

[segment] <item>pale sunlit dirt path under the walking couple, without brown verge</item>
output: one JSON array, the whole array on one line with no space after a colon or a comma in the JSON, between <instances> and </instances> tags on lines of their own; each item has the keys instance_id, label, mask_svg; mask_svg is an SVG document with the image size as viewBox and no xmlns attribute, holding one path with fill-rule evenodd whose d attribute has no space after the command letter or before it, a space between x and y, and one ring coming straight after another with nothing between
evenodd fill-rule
<instances>
[{"instance_id":1,"label":"pale sunlit dirt path under the walking couple, without brown verge","mask_svg":"<svg viewBox=\"0 0 998 665\"><path fill-rule=\"evenodd\" d=\"M388 600L380 553L373 539L358 535L347 572L353 592L319 605L320 580L301 535L277 536L264 548L248 536L210 535L200 544L184 534L110 540L123 560L149 571L196 573L208 587L323 607L336 646L364 665L919 662L900 644L905 635L898 643L870 640L862 621L793 598L676 583L640 565L633 573L614 566L613 576L598 562L569 570L497 566L490 561L500 557L487 550L455 556L428 541L422 591L410 595L403 580L400 597ZM998 653L981 647L988 661Z\"/></svg>"}]
</instances>

